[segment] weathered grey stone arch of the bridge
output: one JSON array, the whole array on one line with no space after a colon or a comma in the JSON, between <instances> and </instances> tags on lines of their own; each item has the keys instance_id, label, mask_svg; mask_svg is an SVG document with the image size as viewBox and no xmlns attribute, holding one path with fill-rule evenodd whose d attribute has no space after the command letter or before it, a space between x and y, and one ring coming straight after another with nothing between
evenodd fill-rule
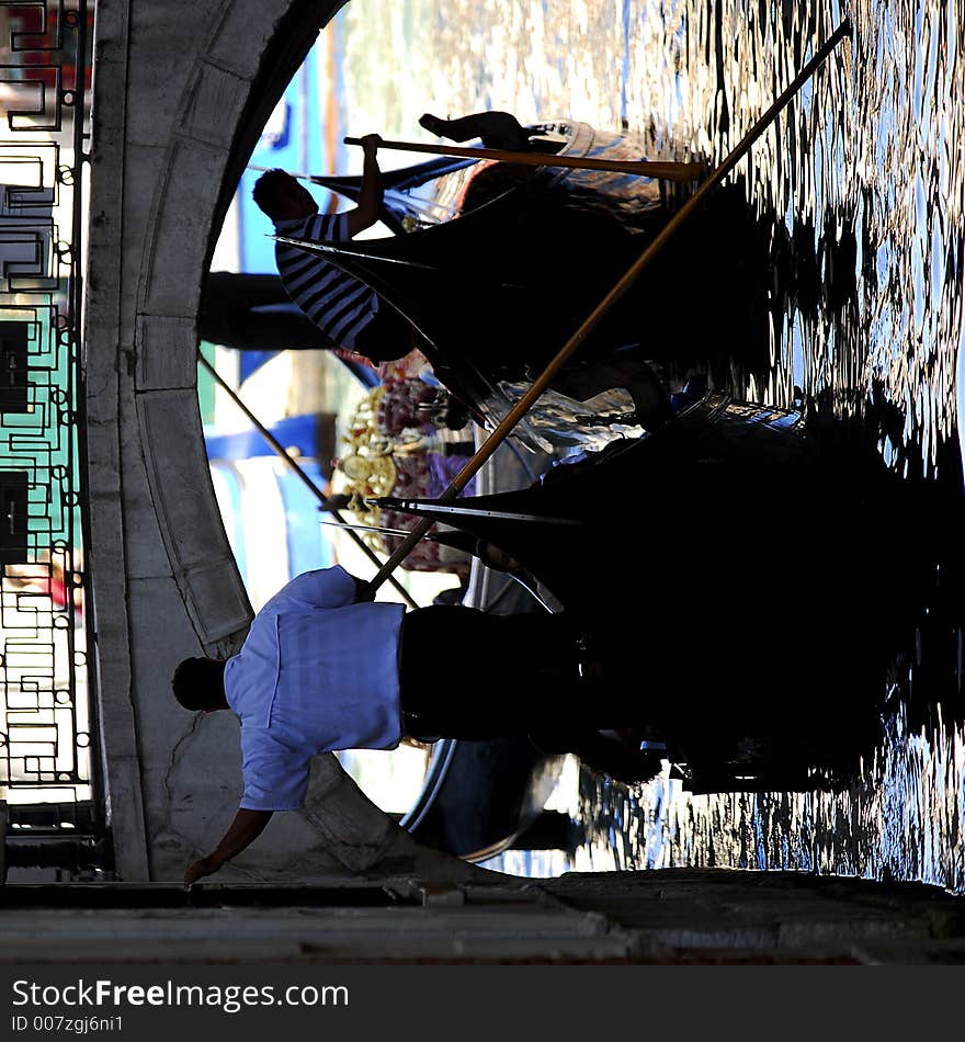
<instances>
[{"instance_id":1,"label":"weathered grey stone arch of the bridge","mask_svg":"<svg viewBox=\"0 0 965 1042\"><path fill-rule=\"evenodd\" d=\"M180 879L237 809L237 721L195 720L170 693L181 658L236 649L251 619L204 452L196 313L254 139L343 2L98 2L84 327L89 566L123 880ZM306 877L417 858L333 757L315 768L306 812L276 815L220 877ZM454 860L446 869L462 870Z\"/></svg>"}]
</instances>

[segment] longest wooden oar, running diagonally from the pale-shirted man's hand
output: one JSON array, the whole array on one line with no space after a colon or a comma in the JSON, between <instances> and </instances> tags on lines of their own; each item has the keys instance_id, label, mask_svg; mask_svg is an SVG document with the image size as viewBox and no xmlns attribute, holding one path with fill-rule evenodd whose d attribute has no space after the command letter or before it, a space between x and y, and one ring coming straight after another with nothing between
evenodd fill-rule
<instances>
[{"instance_id":1,"label":"longest wooden oar, running diagonally from the pale-shirted man's hand","mask_svg":"<svg viewBox=\"0 0 965 1042\"><path fill-rule=\"evenodd\" d=\"M686 220L688 217L701 205L704 197L716 185L727 177L738 162L750 151L753 143L764 133L764 131L774 122L791 99L801 90L801 88L810 79L817 69L827 60L828 56L845 37L851 35L851 20L845 19L828 38L825 45L815 54L810 61L798 72L787 89L777 98L763 116L751 127L750 132L743 137L740 144L733 152L720 163L719 167L707 178L707 180L694 192L694 194L680 207L674 216L667 223L662 231L644 250L636 261L629 267L625 274L620 279L616 285L606 294L606 296L597 305L592 314L586 319L579 329L570 337L560 352L546 366L540 377L533 383L530 389L520 398L520 400L506 415L502 422L492 431L492 433L483 442L476 454L469 458L465 466L452 479L449 488L439 498L443 501L455 499L456 496L466 487L472 477L483 466L484 463L502 444L510 431L529 411L530 407L536 401L540 395L546 389L553 377L566 364L569 356L587 337L597 327L600 320L613 307L614 304L626 293L629 286L636 281L644 269L654 260L657 253L667 245L674 233ZM373 590L378 589L388 576L398 567L399 563L406 559L413 546L433 525L431 518L423 518L410 532L378 570L378 574L371 582Z\"/></svg>"}]
</instances>

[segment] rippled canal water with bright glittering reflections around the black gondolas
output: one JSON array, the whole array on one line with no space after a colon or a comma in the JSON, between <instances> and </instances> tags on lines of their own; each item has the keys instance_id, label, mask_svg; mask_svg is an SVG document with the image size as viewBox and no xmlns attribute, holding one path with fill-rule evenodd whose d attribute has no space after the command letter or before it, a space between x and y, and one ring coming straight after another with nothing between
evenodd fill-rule
<instances>
[{"instance_id":1,"label":"rippled canal water with bright glittering reflections around the black gondolas","mask_svg":"<svg viewBox=\"0 0 965 1042\"><path fill-rule=\"evenodd\" d=\"M352 0L334 26L341 118L350 134L412 138L424 111L506 109L624 128L649 158L716 165L845 18L852 37L738 168L769 229L772 320L750 362L718 359L708 376L739 397L809 403L874 439L905 479L961 489L965 14L955 0L398 0L388 11ZM694 285L695 307L701 296ZM902 537L894 532L897 547ZM624 785L570 762L555 806L581 841L488 863L523 875L788 869L965 894L962 591L938 574L934 591L915 605L913 654L881 678L882 743L855 755L843 789L694 795L669 764Z\"/></svg>"}]
</instances>

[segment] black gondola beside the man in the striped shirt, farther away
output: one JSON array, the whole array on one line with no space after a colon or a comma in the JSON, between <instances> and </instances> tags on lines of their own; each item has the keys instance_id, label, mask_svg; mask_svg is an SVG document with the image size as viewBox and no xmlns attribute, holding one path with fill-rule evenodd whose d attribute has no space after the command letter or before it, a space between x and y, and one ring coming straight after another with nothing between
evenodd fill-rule
<instances>
[{"instance_id":1,"label":"black gondola beside the man in the striped shirt, farther away","mask_svg":"<svg viewBox=\"0 0 965 1042\"><path fill-rule=\"evenodd\" d=\"M527 129L543 151L640 156L638 141L586 123ZM357 179L314 180L350 199L359 191ZM386 223L399 234L285 241L372 286L410 320L438 377L477 415L498 419L506 385L557 353L691 188L609 171L435 159L386 175ZM768 305L763 291L748 287L763 284L770 235L739 184L718 189L553 387L578 400L604 389L612 374L598 375L593 364L614 352L686 360L738 348L749 364L761 362ZM758 278L749 278L750 267Z\"/></svg>"}]
</instances>

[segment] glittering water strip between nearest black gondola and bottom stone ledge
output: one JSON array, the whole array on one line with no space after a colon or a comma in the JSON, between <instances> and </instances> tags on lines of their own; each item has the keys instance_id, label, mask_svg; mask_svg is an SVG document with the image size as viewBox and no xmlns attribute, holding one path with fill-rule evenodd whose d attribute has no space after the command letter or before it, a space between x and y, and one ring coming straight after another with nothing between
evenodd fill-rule
<instances>
[{"instance_id":1,"label":"glittering water strip between nearest black gondola and bottom stone ledge","mask_svg":"<svg viewBox=\"0 0 965 1042\"><path fill-rule=\"evenodd\" d=\"M628 789L584 773L588 831L571 867L783 869L923 880L965 893L963 769L961 728L909 733L896 716L844 792L693 796L669 778Z\"/></svg>"}]
</instances>

